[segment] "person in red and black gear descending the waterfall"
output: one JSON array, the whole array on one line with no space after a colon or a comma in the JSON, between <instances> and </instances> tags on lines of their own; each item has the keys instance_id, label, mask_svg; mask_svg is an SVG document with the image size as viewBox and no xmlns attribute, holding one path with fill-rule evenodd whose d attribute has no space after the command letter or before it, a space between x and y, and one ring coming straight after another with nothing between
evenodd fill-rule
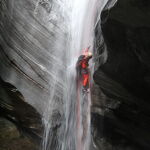
<instances>
[{"instance_id":1,"label":"person in red and black gear descending the waterfall","mask_svg":"<svg viewBox=\"0 0 150 150\"><path fill-rule=\"evenodd\" d=\"M88 47L83 55L80 55L76 64L77 78L81 80L83 92L88 92L89 89L89 60L92 58L92 53L89 52Z\"/></svg>"}]
</instances>

